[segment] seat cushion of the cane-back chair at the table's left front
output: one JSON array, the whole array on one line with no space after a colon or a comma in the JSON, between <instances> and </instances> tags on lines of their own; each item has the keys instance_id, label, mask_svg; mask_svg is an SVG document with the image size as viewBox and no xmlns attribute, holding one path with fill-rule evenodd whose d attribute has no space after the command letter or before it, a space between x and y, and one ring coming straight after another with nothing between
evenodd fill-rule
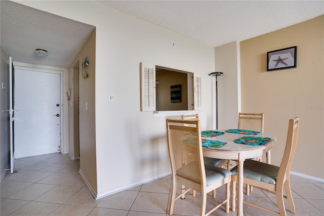
<instances>
[{"instance_id":1,"label":"seat cushion of the cane-back chair at the table's left front","mask_svg":"<svg viewBox=\"0 0 324 216\"><path fill-rule=\"evenodd\" d=\"M205 164L206 185L212 185L222 179L232 175L232 172L217 166Z\"/></svg>"}]
</instances>

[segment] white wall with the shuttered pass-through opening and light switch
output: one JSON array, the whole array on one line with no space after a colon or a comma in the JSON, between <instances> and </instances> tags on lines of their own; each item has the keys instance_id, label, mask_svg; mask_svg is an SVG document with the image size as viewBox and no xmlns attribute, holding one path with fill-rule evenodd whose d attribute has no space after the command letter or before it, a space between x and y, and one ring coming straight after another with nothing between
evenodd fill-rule
<instances>
[{"instance_id":1,"label":"white wall with the shuttered pass-through opening and light switch","mask_svg":"<svg viewBox=\"0 0 324 216\"><path fill-rule=\"evenodd\" d=\"M91 1L18 3L96 26L98 197L170 172L166 117L140 112L141 61L201 74L201 129L212 127L212 47Z\"/></svg>"}]
</instances>

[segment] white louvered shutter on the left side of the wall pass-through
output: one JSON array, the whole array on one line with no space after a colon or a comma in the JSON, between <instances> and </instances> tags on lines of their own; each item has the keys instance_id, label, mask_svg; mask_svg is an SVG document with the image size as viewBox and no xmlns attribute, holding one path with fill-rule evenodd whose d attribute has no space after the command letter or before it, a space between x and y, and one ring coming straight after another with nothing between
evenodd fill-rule
<instances>
[{"instance_id":1,"label":"white louvered shutter on the left side of the wall pass-through","mask_svg":"<svg viewBox=\"0 0 324 216\"><path fill-rule=\"evenodd\" d=\"M141 111L155 111L155 65L140 63Z\"/></svg>"}]
</instances>

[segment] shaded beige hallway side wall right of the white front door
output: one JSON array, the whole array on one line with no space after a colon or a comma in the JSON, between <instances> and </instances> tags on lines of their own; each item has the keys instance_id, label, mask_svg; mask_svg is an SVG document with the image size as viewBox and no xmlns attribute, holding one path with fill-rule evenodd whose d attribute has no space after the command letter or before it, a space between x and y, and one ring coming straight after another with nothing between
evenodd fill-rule
<instances>
[{"instance_id":1,"label":"shaded beige hallway side wall right of the white front door","mask_svg":"<svg viewBox=\"0 0 324 216\"><path fill-rule=\"evenodd\" d=\"M87 78L82 78L82 62L88 57L89 66L86 68ZM80 172L85 178L88 186L92 188L93 193L97 193L97 157L96 157L96 107L95 107L95 83L96 83L96 30L92 32L86 44L78 53L72 65L78 63L78 73L70 68L70 77L78 76L78 82L75 79L69 80L69 87L72 91L73 100L69 107L73 110L73 118L70 116L70 125L77 124L79 120L79 154L80 154ZM78 83L79 86L76 86ZM77 90L78 88L78 90ZM77 93L79 101L76 100ZM77 102L79 103L79 119L75 113ZM86 105L88 104L88 105ZM74 133L74 137L77 134ZM77 148L77 138L73 139L74 149ZM77 150L76 150L77 151ZM74 152L73 152L74 154ZM96 195L96 194L95 194Z\"/></svg>"}]
</instances>

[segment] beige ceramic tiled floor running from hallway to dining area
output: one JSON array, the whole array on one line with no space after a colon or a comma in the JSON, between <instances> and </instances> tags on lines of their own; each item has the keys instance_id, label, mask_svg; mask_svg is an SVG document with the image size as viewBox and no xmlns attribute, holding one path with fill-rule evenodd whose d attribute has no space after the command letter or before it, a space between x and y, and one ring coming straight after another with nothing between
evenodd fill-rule
<instances>
[{"instance_id":1,"label":"beige ceramic tiled floor running from hallway to dining area","mask_svg":"<svg viewBox=\"0 0 324 216\"><path fill-rule=\"evenodd\" d=\"M68 155L50 154L16 160L17 173L7 174L1 182L1 215L129 215L166 216L171 176L95 200L78 174L79 161ZM296 214L324 215L324 184L291 176ZM217 200L225 188L217 189ZM272 194L254 189L246 200L276 209ZM214 200L208 196L208 205ZM286 206L288 203L286 202ZM198 215L200 197L186 195L177 200L173 215ZM244 205L245 215L273 215ZM228 214L224 207L211 215Z\"/></svg>"}]
</instances>

